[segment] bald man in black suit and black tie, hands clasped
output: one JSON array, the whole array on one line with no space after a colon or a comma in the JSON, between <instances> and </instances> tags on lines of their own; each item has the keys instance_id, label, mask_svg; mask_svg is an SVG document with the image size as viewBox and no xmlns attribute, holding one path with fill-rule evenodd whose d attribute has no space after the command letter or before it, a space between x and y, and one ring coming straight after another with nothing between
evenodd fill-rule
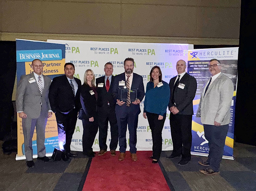
<instances>
[{"instance_id":1,"label":"bald man in black suit and black tie, hands clasped","mask_svg":"<svg viewBox=\"0 0 256 191\"><path fill-rule=\"evenodd\" d=\"M171 78L170 112L171 138L173 151L168 159L180 157L178 165L187 165L191 160L193 99L196 95L196 79L185 71L186 62L179 60L176 64L178 75Z\"/></svg>"}]
</instances>

